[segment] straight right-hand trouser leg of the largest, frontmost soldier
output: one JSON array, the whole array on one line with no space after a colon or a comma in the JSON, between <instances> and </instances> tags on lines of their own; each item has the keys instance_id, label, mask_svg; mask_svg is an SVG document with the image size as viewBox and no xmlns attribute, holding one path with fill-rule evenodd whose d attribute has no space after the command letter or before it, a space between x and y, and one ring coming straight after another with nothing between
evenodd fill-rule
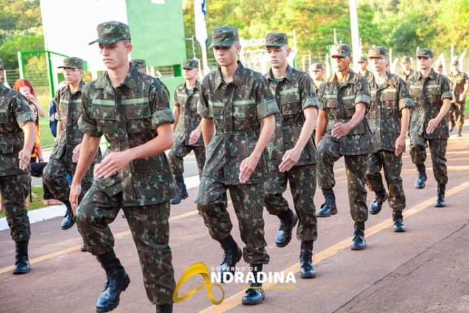
<instances>
[{"instance_id":1,"label":"straight right-hand trouser leg of the largest, frontmost soldier","mask_svg":"<svg viewBox=\"0 0 469 313\"><path fill-rule=\"evenodd\" d=\"M174 270L170 240L170 203L125 208L137 247L147 297L155 305L172 303Z\"/></svg>"}]
</instances>

